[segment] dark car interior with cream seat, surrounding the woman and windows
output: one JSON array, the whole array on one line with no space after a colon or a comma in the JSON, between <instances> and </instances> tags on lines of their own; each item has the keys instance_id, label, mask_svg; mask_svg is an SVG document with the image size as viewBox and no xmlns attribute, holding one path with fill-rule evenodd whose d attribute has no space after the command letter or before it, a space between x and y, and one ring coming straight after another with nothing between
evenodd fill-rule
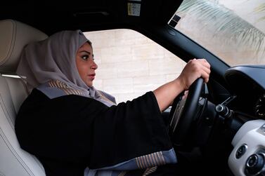
<instances>
[{"instance_id":1,"label":"dark car interior with cream seat, surrounding the woman and windows","mask_svg":"<svg viewBox=\"0 0 265 176\"><path fill-rule=\"evenodd\" d=\"M39 6L37 1L18 1L1 6L0 175L45 175L39 160L20 149L15 136L15 116L30 93L27 79L14 76L27 43L63 29L123 28L140 32L185 62L205 58L211 65L209 83L198 79L186 100L179 95L163 112L183 175L264 175L265 66L231 67L174 29L181 2L46 1ZM141 15L131 15L131 4L141 4Z\"/></svg>"}]
</instances>

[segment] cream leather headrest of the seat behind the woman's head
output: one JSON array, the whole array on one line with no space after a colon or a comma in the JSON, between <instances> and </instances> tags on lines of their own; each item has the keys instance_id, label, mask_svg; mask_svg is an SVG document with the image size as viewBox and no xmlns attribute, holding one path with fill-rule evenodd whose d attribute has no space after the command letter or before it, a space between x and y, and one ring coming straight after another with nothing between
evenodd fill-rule
<instances>
[{"instance_id":1,"label":"cream leather headrest of the seat behind the woman's head","mask_svg":"<svg viewBox=\"0 0 265 176\"><path fill-rule=\"evenodd\" d=\"M16 20L0 20L0 72L15 73L22 49L27 43L48 36L34 27Z\"/></svg>"}]
</instances>

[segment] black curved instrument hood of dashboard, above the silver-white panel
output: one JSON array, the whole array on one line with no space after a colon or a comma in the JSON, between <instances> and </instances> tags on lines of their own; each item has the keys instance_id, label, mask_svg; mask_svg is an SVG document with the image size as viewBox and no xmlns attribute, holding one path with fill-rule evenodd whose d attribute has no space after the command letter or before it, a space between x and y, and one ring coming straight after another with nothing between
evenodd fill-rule
<instances>
[{"instance_id":1,"label":"black curved instrument hood of dashboard, above the silver-white panel","mask_svg":"<svg viewBox=\"0 0 265 176\"><path fill-rule=\"evenodd\" d=\"M240 65L231 67L224 75L231 86L235 100L230 108L265 119L265 65Z\"/></svg>"}]
</instances>

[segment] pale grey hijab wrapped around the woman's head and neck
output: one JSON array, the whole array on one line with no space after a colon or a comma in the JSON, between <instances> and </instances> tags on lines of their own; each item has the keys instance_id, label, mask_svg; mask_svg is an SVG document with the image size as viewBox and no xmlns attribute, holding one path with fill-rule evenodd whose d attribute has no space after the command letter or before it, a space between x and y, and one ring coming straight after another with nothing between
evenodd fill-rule
<instances>
[{"instance_id":1,"label":"pale grey hijab wrapped around the woman's head and neck","mask_svg":"<svg viewBox=\"0 0 265 176\"><path fill-rule=\"evenodd\" d=\"M80 30L75 30L57 32L44 41L30 43L22 52L17 74L26 77L30 89L56 80L65 83L67 88L79 90L86 97L101 101L99 97L103 92L98 93L93 86L87 86L77 70L77 50L86 42L91 43ZM52 91L44 93L61 96L54 95Z\"/></svg>"}]
</instances>

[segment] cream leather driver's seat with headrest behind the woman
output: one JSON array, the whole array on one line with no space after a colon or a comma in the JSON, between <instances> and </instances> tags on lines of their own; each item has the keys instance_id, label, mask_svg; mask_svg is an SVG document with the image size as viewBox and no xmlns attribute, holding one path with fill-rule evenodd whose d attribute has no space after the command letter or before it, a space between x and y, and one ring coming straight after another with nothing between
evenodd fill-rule
<instances>
[{"instance_id":1,"label":"cream leather driver's seat with headrest behind the woman","mask_svg":"<svg viewBox=\"0 0 265 176\"><path fill-rule=\"evenodd\" d=\"M28 95L25 82L3 75L15 73L27 43L46 38L46 34L22 22L0 20L0 175L45 175L38 159L22 150L15 136L15 116Z\"/></svg>"}]
</instances>

